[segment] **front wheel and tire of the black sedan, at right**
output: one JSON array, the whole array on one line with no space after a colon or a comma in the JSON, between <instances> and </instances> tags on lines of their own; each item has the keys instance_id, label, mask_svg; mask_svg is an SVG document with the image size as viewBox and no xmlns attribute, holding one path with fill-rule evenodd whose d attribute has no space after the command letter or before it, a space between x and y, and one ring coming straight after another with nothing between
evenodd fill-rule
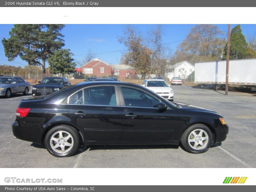
<instances>
[{"instance_id":1,"label":"front wheel and tire of the black sedan, at right","mask_svg":"<svg viewBox=\"0 0 256 192\"><path fill-rule=\"evenodd\" d=\"M186 129L180 142L189 153L204 153L212 145L212 132L204 124L194 124Z\"/></svg>"}]
</instances>

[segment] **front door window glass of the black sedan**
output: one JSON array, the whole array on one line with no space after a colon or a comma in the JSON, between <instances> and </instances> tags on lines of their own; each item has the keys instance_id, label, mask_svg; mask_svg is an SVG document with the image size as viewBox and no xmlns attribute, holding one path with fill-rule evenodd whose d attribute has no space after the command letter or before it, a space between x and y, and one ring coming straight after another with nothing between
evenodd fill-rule
<instances>
[{"instance_id":1,"label":"front door window glass of the black sedan","mask_svg":"<svg viewBox=\"0 0 256 192\"><path fill-rule=\"evenodd\" d=\"M147 107L153 108L159 100L148 93L130 87L121 87L124 103L127 107Z\"/></svg>"}]
</instances>

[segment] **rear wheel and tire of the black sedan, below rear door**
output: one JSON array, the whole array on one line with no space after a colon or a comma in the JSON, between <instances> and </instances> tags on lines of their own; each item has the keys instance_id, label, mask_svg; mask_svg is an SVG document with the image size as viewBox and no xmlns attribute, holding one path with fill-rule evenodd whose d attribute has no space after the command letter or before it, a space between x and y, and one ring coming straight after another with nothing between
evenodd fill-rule
<instances>
[{"instance_id":1,"label":"rear wheel and tire of the black sedan, below rear door","mask_svg":"<svg viewBox=\"0 0 256 192\"><path fill-rule=\"evenodd\" d=\"M72 156L78 150L79 135L74 127L58 125L47 132L44 145L53 156Z\"/></svg>"}]
</instances>

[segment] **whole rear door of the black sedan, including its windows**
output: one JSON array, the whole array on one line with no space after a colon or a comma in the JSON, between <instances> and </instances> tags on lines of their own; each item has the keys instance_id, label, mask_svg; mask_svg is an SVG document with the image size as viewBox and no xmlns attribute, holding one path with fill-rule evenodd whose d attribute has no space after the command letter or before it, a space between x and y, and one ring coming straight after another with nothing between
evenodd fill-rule
<instances>
[{"instance_id":1,"label":"whole rear door of the black sedan, including its windows","mask_svg":"<svg viewBox=\"0 0 256 192\"><path fill-rule=\"evenodd\" d=\"M120 141L123 113L115 85L86 87L68 97L68 116L90 141Z\"/></svg>"}]
</instances>

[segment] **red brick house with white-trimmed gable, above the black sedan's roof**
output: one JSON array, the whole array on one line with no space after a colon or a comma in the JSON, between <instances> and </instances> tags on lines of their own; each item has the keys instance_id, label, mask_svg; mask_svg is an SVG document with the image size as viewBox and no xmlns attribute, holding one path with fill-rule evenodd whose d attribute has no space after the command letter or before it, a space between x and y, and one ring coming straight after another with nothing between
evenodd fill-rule
<instances>
[{"instance_id":1,"label":"red brick house with white-trimmed gable, above the black sedan's roof","mask_svg":"<svg viewBox=\"0 0 256 192\"><path fill-rule=\"evenodd\" d=\"M111 66L97 58L81 66L81 73L88 76L96 75L97 77L108 77L111 75L111 72Z\"/></svg>"}]
</instances>

